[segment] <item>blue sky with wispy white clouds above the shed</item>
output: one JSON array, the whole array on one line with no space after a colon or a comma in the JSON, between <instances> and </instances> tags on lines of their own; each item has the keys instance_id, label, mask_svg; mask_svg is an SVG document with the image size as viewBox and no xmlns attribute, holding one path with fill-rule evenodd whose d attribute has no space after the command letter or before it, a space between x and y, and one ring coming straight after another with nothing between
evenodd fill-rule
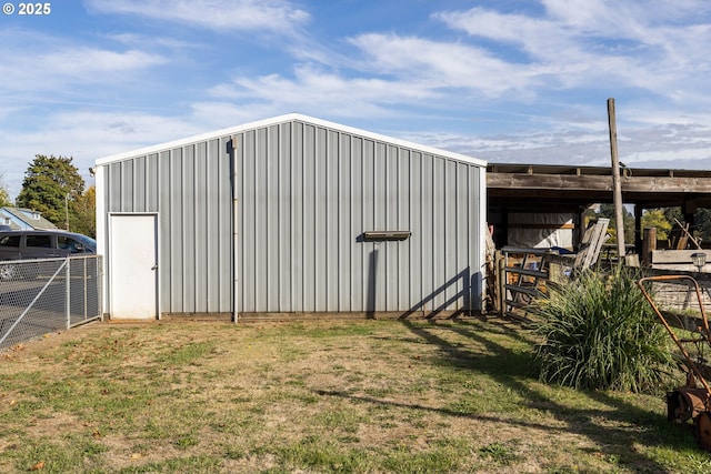
<instances>
[{"instance_id":1,"label":"blue sky with wispy white clouds above the shed","mask_svg":"<svg viewBox=\"0 0 711 474\"><path fill-rule=\"evenodd\" d=\"M489 162L711 169L708 0L56 0L0 14L0 172L298 112Z\"/></svg>"}]
</instances>

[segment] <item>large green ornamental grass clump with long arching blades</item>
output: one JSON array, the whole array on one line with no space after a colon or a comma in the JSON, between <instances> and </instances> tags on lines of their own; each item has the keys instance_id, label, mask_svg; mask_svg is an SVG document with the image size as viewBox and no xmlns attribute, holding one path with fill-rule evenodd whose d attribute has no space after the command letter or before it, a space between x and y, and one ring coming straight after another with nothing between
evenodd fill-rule
<instances>
[{"instance_id":1,"label":"large green ornamental grass clump with long arching blades","mask_svg":"<svg viewBox=\"0 0 711 474\"><path fill-rule=\"evenodd\" d=\"M582 272L532 303L540 380L585 390L657 392L673 370L670 337L637 286L639 274Z\"/></svg>"}]
</instances>

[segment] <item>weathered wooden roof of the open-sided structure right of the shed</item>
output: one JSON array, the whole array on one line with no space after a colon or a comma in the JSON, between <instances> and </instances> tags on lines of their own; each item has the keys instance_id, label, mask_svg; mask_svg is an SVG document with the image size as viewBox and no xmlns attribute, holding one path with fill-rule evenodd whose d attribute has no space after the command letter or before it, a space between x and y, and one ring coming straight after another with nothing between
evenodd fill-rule
<instances>
[{"instance_id":1,"label":"weathered wooden roof of the open-sided structure right of the shed","mask_svg":"<svg viewBox=\"0 0 711 474\"><path fill-rule=\"evenodd\" d=\"M622 199L634 205L635 230L645 209L679 206L687 222L698 208L711 208L711 171L621 169ZM487 167L488 222L494 225L497 246L503 246L511 213L570 212L578 215L592 204L613 202L609 167L489 163ZM642 235L634 235L635 248Z\"/></svg>"}]
</instances>

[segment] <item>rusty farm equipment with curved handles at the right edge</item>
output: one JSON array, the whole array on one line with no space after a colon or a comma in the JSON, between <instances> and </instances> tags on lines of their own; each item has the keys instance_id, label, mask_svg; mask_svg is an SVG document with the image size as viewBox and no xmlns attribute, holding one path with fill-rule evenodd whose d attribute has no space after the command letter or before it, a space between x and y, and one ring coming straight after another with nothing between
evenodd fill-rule
<instances>
[{"instance_id":1,"label":"rusty farm equipment with curved handles at the right edge","mask_svg":"<svg viewBox=\"0 0 711 474\"><path fill-rule=\"evenodd\" d=\"M685 312L663 310L664 296L655 296L655 302L650 293L652 284L677 289L671 293L684 295ZM643 278L638 285L679 347L679 365L687 374L684 386L667 393L667 417L692 424L701 447L711 451L711 366L707 359L711 352L711 331L699 283L688 275L658 275ZM699 313L689 310L691 301L698 302Z\"/></svg>"}]
</instances>

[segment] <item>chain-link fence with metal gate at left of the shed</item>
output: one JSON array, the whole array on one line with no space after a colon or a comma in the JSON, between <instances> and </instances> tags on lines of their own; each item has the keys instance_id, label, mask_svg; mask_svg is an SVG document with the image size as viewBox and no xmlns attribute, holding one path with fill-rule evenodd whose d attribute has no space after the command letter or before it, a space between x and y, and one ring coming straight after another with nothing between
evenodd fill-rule
<instances>
[{"instance_id":1,"label":"chain-link fence with metal gate at left of the shed","mask_svg":"<svg viewBox=\"0 0 711 474\"><path fill-rule=\"evenodd\" d=\"M101 256L0 262L0 350L101 319Z\"/></svg>"}]
</instances>

